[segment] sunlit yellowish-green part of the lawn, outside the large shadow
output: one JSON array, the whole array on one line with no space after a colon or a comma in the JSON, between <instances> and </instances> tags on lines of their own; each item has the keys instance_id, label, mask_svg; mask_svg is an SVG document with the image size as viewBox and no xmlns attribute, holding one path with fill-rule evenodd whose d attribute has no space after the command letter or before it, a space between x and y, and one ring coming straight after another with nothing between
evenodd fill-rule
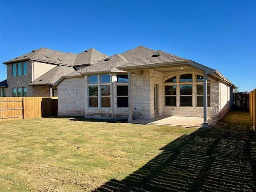
<instances>
[{"instance_id":1,"label":"sunlit yellowish-green part of the lawn, outside the large shadow","mask_svg":"<svg viewBox=\"0 0 256 192\"><path fill-rule=\"evenodd\" d=\"M0 122L0 191L91 191L196 130L83 118Z\"/></svg>"}]
</instances>

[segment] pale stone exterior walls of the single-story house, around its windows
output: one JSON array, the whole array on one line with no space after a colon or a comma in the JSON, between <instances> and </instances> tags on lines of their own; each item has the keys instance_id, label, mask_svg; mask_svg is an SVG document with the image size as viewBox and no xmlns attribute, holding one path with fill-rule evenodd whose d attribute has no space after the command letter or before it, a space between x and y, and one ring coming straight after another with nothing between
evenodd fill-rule
<instances>
[{"instance_id":1,"label":"pale stone exterior walls of the single-story house, around its windows","mask_svg":"<svg viewBox=\"0 0 256 192\"><path fill-rule=\"evenodd\" d=\"M192 74L193 82L181 82L181 74ZM203 82L196 82L196 75L203 75L196 70L182 72L160 72L156 70L144 70L143 73L132 74L132 108L133 118L152 119L155 116L154 112L154 86L157 88L157 105L156 111L158 116L190 116L203 117L203 107L196 106L196 86ZM164 83L165 80L176 76L177 82ZM87 76L84 78L64 79L58 86L59 98L59 114L79 114L86 118L128 118L128 108L117 107L117 90L118 85L127 85L128 83L117 82L116 74L112 74L110 83L100 84L100 75L98 75L97 84L88 84ZM219 82L209 81L210 83L210 107L208 107L208 117L219 118L220 110L229 108L221 108L225 103L220 105L221 92L226 90L226 104L228 100L227 86L220 90ZM192 106L180 106L180 85L192 85ZM100 86L110 85L111 89L111 106L110 108L102 108L100 106ZM176 106L165 106L165 86L176 85ZM98 107L89 107L89 86L98 86ZM74 90L70 89L74 88ZM224 100L224 99L223 99ZM84 107L81 107L81 106ZM114 111L112 111L112 107ZM112 114L113 113L113 114Z\"/></svg>"}]
</instances>

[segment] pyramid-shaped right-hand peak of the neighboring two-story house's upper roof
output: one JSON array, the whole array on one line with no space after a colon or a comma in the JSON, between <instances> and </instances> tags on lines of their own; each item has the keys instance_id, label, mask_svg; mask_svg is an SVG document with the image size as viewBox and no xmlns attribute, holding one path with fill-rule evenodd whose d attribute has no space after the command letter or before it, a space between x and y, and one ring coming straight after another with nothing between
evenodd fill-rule
<instances>
[{"instance_id":1,"label":"pyramid-shaped right-hand peak of the neighboring two-story house's upper roof","mask_svg":"<svg viewBox=\"0 0 256 192\"><path fill-rule=\"evenodd\" d=\"M94 48L90 48L77 54L74 66L92 65L107 57L108 55L105 55Z\"/></svg>"}]
</instances>

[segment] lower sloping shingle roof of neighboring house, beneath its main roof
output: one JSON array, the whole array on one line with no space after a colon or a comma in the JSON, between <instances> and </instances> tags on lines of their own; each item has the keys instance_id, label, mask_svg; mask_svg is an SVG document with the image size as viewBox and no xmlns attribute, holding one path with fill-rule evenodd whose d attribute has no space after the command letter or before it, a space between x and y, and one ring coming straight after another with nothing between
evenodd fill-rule
<instances>
[{"instance_id":1,"label":"lower sloping shingle roof of neighboring house, beneath its main roof","mask_svg":"<svg viewBox=\"0 0 256 192\"><path fill-rule=\"evenodd\" d=\"M68 66L56 66L50 71L46 72L34 82L28 84L30 86L38 85L53 85L56 83L62 76L74 72L74 68Z\"/></svg>"}]
</instances>

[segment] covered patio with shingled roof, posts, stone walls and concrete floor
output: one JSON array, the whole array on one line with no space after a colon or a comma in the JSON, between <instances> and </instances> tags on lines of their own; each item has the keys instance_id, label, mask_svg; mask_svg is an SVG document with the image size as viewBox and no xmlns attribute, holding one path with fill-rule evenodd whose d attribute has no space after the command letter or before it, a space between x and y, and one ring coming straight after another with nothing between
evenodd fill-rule
<instances>
[{"instance_id":1,"label":"covered patio with shingled roof, posts, stone walls and concrete floor","mask_svg":"<svg viewBox=\"0 0 256 192\"><path fill-rule=\"evenodd\" d=\"M138 63L136 66L131 64L119 67L120 70L128 72L128 122L210 128L220 118L220 95L217 93L219 82L231 84L232 86L232 83L224 78L220 72L192 60L176 58L173 55L162 52L156 52L150 58L141 58ZM133 98L133 92L137 91L138 93L143 87L140 85L138 88L133 86L133 83L136 82L133 80L135 77L133 74L145 79L145 76L143 76L145 72L149 73L147 80L149 82L150 96L149 98L145 98L144 96L144 100L147 99L150 104L148 110L149 118L145 120L144 118L138 117L136 118L137 120L134 120L134 112L136 112L136 106L138 104L136 103L134 105L134 101L137 102L137 98ZM182 81L181 77L183 74L191 74L191 79L187 82ZM197 81L197 76L200 76L200 82ZM209 82L211 82L211 88L209 86L210 84L208 84ZM199 94L196 93L197 85L199 84L202 87L200 91L200 97L202 99L200 100L200 105L198 105L197 100ZM172 90L176 92L173 94L176 100L172 106L166 104L166 86L169 86L170 89L174 87L177 89ZM190 91L191 94L182 94L182 92L185 92L182 90L184 87L188 87L185 91ZM137 90L134 90L134 88ZM169 91L171 92L171 90ZM188 98L186 97L187 95L191 97L189 98L189 105L182 104L181 102L184 102ZM138 99L141 98L142 96L138 97Z\"/></svg>"}]
</instances>

